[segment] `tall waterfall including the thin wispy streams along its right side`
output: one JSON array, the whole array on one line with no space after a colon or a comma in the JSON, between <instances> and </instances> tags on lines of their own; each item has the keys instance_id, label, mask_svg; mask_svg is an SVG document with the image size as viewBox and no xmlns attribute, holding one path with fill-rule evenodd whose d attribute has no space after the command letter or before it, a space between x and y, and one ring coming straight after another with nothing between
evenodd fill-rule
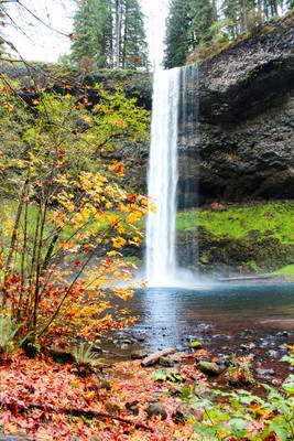
<instances>
[{"instance_id":1,"label":"tall waterfall including the thin wispy streams along its right side","mask_svg":"<svg viewBox=\"0 0 294 441\"><path fill-rule=\"evenodd\" d=\"M194 128L195 114L189 107L197 106L197 100L193 103L193 90L197 88L193 84L196 73L195 66L188 66L171 71L159 69L154 74L148 187L156 212L150 211L146 225L149 286L168 287L178 283L177 196L182 198L178 201L179 205L186 208L186 196L192 187L195 190L189 179L185 183L186 176L178 176L178 141L188 143L188 133ZM184 131L184 137L179 129ZM185 164L181 168L184 174L185 168ZM179 192L178 180L181 182L183 179L184 186L182 185ZM194 248L197 246L194 245ZM187 250L187 254L190 255L190 251Z\"/></svg>"}]
</instances>

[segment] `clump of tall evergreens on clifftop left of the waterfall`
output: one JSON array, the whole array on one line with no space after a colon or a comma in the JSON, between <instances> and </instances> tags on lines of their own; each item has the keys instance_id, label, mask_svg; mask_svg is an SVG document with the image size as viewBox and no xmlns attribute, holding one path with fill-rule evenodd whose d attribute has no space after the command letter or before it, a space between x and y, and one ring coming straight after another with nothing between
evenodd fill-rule
<instances>
[{"instance_id":1,"label":"clump of tall evergreens on clifftop left of the waterfall","mask_svg":"<svg viewBox=\"0 0 294 441\"><path fill-rule=\"evenodd\" d=\"M138 0L84 0L75 15L74 62L95 67L148 64L143 14Z\"/></svg>"}]
</instances>

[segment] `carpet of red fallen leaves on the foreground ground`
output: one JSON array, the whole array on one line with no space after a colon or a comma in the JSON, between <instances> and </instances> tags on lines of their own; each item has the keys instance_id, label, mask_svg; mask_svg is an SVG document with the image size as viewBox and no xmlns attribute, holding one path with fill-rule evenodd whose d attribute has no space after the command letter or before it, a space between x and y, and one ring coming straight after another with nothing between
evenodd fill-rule
<instances>
[{"instance_id":1,"label":"carpet of red fallen leaves on the foreground ground","mask_svg":"<svg viewBox=\"0 0 294 441\"><path fill-rule=\"evenodd\" d=\"M91 374L80 378L72 373L72 365L57 365L43 357L29 359L21 353L9 366L0 370L0 426L7 433L26 433L40 440L69 441L77 437L81 441L92 437L101 441L189 440L193 429L178 426L172 420L177 398L166 395L166 385L154 383L151 370L142 369L140 362L120 363L99 379ZM109 379L110 390L101 387ZM128 402L139 401L139 415L128 410ZM146 421L145 408L152 401L161 401L168 415L165 421L153 418ZM81 409L107 412L109 401L116 402L119 417L133 424L112 419L75 417L52 409ZM35 409L34 406L42 409ZM135 428L135 423L148 424L154 433Z\"/></svg>"}]
</instances>

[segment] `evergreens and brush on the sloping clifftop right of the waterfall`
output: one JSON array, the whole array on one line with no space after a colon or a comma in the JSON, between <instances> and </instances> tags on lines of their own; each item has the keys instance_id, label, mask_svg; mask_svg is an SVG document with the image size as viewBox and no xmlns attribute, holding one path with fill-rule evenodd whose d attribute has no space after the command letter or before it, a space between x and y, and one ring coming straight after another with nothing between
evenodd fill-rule
<instances>
[{"instance_id":1,"label":"evergreens and brush on the sloping clifftop right of the waterfall","mask_svg":"<svg viewBox=\"0 0 294 441\"><path fill-rule=\"evenodd\" d=\"M206 60L290 9L290 0L172 0L164 66Z\"/></svg>"}]
</instances>

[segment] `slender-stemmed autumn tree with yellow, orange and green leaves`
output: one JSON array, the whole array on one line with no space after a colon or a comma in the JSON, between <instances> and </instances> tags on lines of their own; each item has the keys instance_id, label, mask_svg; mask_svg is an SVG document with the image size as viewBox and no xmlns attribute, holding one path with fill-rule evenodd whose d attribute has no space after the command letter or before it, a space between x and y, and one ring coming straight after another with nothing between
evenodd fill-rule
<instances>
[{"instance_id":1,"label":"slender-stemmed autumn tree with yellow, orange and green leaves","mask_svg":"<svg viewBox=\"0 0 294 441\"><path fill-rule=\"evenodd\" d=\"M110 299L132 291L109 287L130 279L123 248L139 246L148 201L124 191L123 164L104 157L122 138L146 137L149 114L119 89L97 94L91 112L85 96L44 90L30 108L2 78L0 173L11 202L2 201L0 292L30 344L126 323Z\"/></svg>"}]
</instances>

